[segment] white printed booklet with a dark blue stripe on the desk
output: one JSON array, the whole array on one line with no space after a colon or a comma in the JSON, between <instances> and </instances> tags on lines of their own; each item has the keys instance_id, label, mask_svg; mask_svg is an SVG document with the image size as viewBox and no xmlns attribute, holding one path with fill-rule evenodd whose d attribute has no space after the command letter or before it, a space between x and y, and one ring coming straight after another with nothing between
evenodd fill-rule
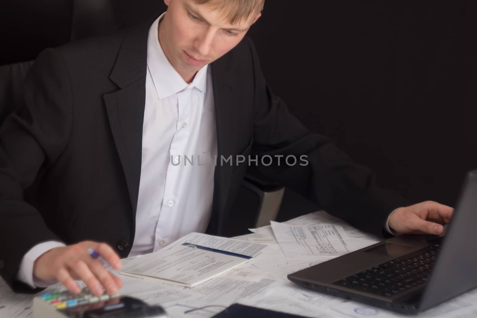
<instances>
[{"instance_id":1,"label":"white printed booklet with a dark blue stripe on the desk","mask_svg":"<svg viewBox=\"0 0 477 318\"><path fill-rule=\"evenodd\" d=\"M170 246L136 257L121 274L194 287L259 255L266 244L190 233Z\"/></svg>"}]
</instances>

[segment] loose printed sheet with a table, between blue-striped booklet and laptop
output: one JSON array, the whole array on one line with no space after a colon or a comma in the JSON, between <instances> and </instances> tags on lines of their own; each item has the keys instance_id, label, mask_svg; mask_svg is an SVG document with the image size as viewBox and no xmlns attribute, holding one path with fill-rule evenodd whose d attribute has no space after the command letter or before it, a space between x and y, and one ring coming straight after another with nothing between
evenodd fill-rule
<instances>
[{"instance_id":1,"label":"loose printed sheet with a table, between blue-striped booklet and laptop","mask_svg":"<svg viewBox=\"0 0 477 318\"><path fill-rule=\"evenodd\" d=\"M271 221L273 233L287 258L338 256L349 253L349 236L342 226L293 226Z\"/></svg>"}]
</instances>

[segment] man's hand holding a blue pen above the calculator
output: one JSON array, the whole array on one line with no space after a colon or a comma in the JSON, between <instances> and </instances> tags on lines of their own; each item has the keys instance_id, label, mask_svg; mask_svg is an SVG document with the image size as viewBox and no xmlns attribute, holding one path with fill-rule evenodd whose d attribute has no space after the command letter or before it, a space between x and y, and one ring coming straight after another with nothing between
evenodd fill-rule
<instances>
[{"instance_id":1,"label":"man's hand holding a blue pen above the calculator","mask_svg":"<svg viewBox=\"0 0 477 318\"><path fill-rule=\"evenodd\" d=\"M93 259L87 250L91 247L114 269L122 267L119 256L105 243L84 241L74 245L55 247L35 260L33 275L41 280L58 280L73 294L79 294L81 287L75 280L83 280L96 296L104 289L114 295L123 286L123 281L104 268L98 259Z\"/></svg>"}]
</instances>

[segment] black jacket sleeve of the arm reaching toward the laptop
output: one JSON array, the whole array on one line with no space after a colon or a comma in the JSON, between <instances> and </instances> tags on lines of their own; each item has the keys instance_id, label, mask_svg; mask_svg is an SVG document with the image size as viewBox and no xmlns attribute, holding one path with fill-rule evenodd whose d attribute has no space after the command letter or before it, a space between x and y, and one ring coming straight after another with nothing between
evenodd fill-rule
<instances>
[{"instance_id":1,"label":"black jacket sleeve of the arm reaching toward the laptop","mask_svg":"<svg viewBox=\"0 0 477 318\"><path fill-rule=\"evenodd\" d=\"M329 138L310 133L292 116L265 82L257 52L250 40L249 44L255 81L252 152L259 157L270 155L274 163L259 165L259 173L292 188L352 226L383 236L391 212L409 202L378 187L370 169L353 163ZM293 157L287 164L290 155L296 158L296 164ZM277 156L282 156L280 165Z\"/></svg>"}]
</instances>

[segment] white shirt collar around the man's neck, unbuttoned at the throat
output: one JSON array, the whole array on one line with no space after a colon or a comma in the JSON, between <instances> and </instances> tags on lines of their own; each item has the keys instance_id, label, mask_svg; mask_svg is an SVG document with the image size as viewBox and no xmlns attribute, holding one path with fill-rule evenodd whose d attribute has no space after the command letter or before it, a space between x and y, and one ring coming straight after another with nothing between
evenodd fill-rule
<instances>
[{"instance_id":1,"label":"white shirt collar around the man's neck, unbuttoned at the throat","mask_svg":"<svg viewBox=\"0 0 477 318\"><path fill-rule=\"evenodd\" d=\"M159 21L164 18L166 12L161 14L149 28L147 37L147 67L151 74L154 86L156 87L159 99L176 94L189 86L187 82L177 73L172 64L167 60L166 54L159 43L157 27ZM207 67L202 67L190 83L201 92L207 92Z\"/></svg>"}]
</instances>

